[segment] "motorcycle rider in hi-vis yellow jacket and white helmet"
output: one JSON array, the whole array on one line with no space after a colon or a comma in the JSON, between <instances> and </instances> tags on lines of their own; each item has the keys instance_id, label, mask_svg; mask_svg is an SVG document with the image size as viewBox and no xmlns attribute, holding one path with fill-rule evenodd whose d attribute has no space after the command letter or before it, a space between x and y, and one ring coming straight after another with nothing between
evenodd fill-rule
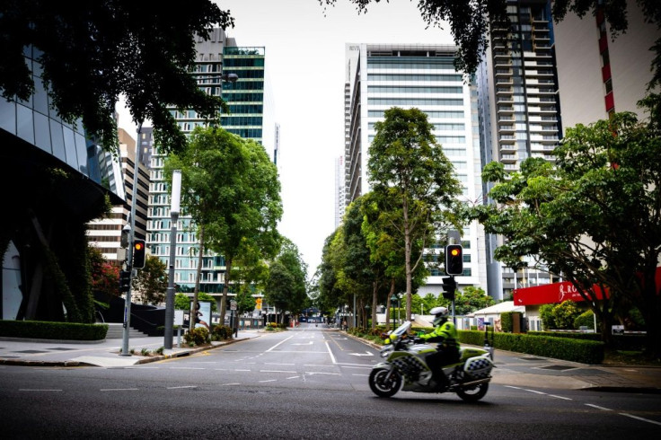
<instances>
[{"instance_id":1,"label":"motorcycle rider in hi-vis yellow jacket and white helmet","mask_svg":"<svg viewBox=\"0 0 661 440\"><path fill-rule=\"evenodd\" d=\"M414 339L415 342L437 342L436 353L427 356L427 365L431 369L432 380L446 385L447 378L441 367L459 362L459 341L453 321L448 321L446 307L434 307L429 311L434 315L434 330Z\"/></svg>"}]
</instances>

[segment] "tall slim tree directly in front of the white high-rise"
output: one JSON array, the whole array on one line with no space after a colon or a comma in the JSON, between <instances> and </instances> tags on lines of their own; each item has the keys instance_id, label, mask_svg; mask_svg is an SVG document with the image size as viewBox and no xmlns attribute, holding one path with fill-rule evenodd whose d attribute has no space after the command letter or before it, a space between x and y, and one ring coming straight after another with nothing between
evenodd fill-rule
<instances>
[{"instance_id":1,"label":"tall slim tree directly in front of the white high-rise","mask_svg":"<svg viewBox=\"0 0 661 440\"><path fill-rule=\"evenodd\" d=\"M388 213L395 240L403 244L410 320L413 274L423 250L450 224L461 229L453 209L461 187L425 113L393 107L384 116L375 124L368 149L368 178L379 209Z\"/></svg>"}]
</instances>

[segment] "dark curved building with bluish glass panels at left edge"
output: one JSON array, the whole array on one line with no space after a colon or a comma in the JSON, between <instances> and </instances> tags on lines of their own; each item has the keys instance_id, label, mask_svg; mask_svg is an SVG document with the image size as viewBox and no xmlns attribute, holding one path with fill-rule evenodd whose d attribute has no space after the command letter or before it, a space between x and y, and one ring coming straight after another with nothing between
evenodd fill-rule
<instances>
[{"instance_id":1,"label":"dark curved building with bluish glass panels at left edge","mask_svg":"<svg viewBox=\"0 0 661 440\"><path fill-rule=\"evenodd\" d=\"M0 97L0 187L11 211L2 220L0 240L4 320L64 321L63 286L55 286L45 268L57 264L73 290L84 224L100 215L106 198L122 201L123 183L107 173L101 146L86 137L81 120L67 123L52 108L39 55L30 47L23 52L34 82L30 99Z\"/></svg>"}]
</instances>

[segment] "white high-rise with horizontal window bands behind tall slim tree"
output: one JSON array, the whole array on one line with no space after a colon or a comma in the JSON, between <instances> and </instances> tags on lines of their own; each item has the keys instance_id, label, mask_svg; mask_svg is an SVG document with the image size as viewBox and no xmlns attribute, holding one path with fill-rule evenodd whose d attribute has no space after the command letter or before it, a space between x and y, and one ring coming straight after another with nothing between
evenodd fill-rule
<instances>
[{"instance_id":1,"label":"white high-rise with horizontal window bands behind tall slim tree","mask_svg":"<svg viewBox=\"0 0 661 440\"><path fill-rule=\"evenodd\" d=\"M375 122L392 107L418 108L435 127L434 134L456 177L465 201L481 196L480 137L477 89L454 67L456 48L422 44L347 44L345 85L345 173L347 203L369 191L367 149L375 137ZM484 233L467 225L460 286L486 286ZM439 295L443 268L431 270L419 294Z\"/></svg>"}]
</instances>

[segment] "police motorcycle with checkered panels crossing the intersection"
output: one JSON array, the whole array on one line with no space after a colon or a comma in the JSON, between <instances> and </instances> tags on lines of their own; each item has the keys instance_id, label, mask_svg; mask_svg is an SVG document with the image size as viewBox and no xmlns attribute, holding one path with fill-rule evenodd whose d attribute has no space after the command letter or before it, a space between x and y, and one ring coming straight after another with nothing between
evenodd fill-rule
<instances>
[{"instance_id":1,"label":"police motorcycle with checkered panels crossing the intersection","mask_svg":"<svg viewBox=\"0 0 661 440\"><path fill-rule=\"evenodd\" d=\"M459 362L444 365L445 383L435 383L426 357L436 352L434 346L416 343L408 337L410 321L405 321L385 339L381 362L372 368L369 387L379 397L397 392L455 392L462 400L478 401L489 391L493 350L460 348ZM403 385L402 385L403 383Z\"/></svg>"}]
</instances>

